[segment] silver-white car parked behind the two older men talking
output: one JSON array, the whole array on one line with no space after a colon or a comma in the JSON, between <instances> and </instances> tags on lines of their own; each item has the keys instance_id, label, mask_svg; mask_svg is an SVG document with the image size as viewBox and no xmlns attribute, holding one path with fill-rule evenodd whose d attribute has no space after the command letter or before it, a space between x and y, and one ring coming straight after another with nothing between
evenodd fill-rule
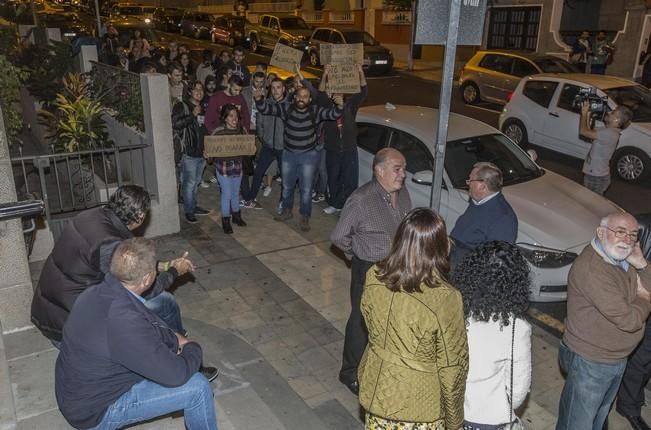
<instances>
[{"instance_id":1,"label":"silver-white car parked behind the two older men talking","mask_svg":"<svg viewBox=\"0 0 651 430\"><path fill-rule=\"evenodd\" d=\"M360 183L371 179L374 154L387 146L407 159L405 185L414 207L429 206L438 110L367 106L357 114ZM478 161L504 174L503 193L518 216L517 244L531 266L531 300L563 301L567 274L594 237L600 219L621 211L583 186L540 168L499 130L450 114L440 213L451 231L468 206L468 178Z\"/></svg>"}]
</instances>

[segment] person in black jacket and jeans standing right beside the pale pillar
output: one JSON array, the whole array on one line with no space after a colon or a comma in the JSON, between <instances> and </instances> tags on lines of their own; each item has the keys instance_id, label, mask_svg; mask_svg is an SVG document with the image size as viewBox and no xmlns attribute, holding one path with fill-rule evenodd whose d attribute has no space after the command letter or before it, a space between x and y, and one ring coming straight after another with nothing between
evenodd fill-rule
<instances>
[{"instance_id":1,"label":"person in black jacket and jeans standing right beside the pale pillar","mask_svg":"<svg viewBox=\"0 0 651 430\"><path fill-rule=\"evenodd\" d=\"M210 213L197 206L197 192L206 166L206 160L203 158L203 96L203 84L195 81L190 86L188 97L176 102L172 107L174 160L180 166L183 210L185 220L190 224L198 222L197 216Z\"/></svg>"}]
</instances>

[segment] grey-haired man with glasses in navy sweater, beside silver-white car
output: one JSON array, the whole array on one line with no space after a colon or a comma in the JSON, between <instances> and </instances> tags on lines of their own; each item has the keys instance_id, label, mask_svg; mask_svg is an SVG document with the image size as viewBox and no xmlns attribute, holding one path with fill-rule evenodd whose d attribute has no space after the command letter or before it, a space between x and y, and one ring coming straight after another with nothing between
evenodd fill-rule
<instances>
[{"instance_id":1,"label":"grey-haired man with glasses in navy sweater, beside silver-white car","mask_svg":"<svg viewBox=\"0 0 651 430\"><path fill-rule=\"evenodd\" d=\"M496 165L476 163L466 184L470 196L468 208L450 232L454 241L450 254L452 268L481 243L491 240L515 243L518 235L518 218L501 192L502 171Z\"/></svg>"}]
</instances>

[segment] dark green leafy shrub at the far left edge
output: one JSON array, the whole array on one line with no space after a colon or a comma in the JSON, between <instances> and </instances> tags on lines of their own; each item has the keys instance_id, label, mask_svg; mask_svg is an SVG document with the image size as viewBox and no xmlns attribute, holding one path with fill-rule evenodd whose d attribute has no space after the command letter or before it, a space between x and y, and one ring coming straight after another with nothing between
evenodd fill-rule
<instances>
[{"instance_id":1,"label":"dark green leafy shrub at the far left edge","mask_svg":"<svg viewBox=\"0 0 651 430\"><path fill-rule=\"evenodd\" d=\"M5 131L9 145L20 142L23 117L18 109L20 103L21 81L25 73L0 55L0 107L4 118Z\"/></svg>"}]
</instances>

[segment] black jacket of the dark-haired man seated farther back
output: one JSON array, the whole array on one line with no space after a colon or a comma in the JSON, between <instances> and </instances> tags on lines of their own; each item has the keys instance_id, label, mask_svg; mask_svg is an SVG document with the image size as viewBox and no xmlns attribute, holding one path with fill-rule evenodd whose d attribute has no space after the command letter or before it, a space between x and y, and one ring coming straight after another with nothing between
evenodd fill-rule
<instances>
[{"instance_id":1,"label":"black jacket of the dark-haired man seated farther back","mask_svg":"<svg viewBox=\"0 0 651 430\"><path fill-rule=\"evenodd\" d=\"M77 297L102 282L115 246L131 237L133 233L106 207L84 211L66 225L45 261L32 299L32 322L45 337L61 340L63 324ZM146 296L160 294L177 275L173 268L159 273Z\"/></svg>"}]
</instances>

